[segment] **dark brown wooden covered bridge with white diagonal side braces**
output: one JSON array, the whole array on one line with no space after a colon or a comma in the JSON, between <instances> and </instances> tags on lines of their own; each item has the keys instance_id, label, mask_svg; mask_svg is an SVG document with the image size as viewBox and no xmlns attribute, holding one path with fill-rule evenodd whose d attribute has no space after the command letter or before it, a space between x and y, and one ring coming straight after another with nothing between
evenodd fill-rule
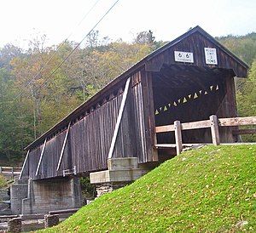
<instances>
[{"instance_id":1,"label":"dark brown wooden covered bridge with white diagonal side braces","mask_svg":"<svg viewBox=\"0 0 256 233\"><path fill-rule=\"evenodd\" d=\"M234 77L248 66L201 27L149 54L26 147L20 179L54 180L108 169L108 159L152 164L176 154L159 126L237 117ZM156 134L164 132L161 134ZM219 139L236 142L234 127ZM183 143L210 143L210 128L183 132Z\"/></svg>"}]
</instances>

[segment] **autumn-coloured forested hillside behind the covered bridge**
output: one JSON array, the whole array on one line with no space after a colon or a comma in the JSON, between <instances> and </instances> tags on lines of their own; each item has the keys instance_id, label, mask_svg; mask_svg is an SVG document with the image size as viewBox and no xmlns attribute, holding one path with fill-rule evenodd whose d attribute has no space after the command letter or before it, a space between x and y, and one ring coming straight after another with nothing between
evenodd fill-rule
<instances>
[{"instance_id":1,"label":"autumn-coloured forested hillside behind the covered bridge","mask_svg":"<svg viewBox=\"0 0 256 233\"><path fill-rule=\"evenodd\" d=\"M139 33L133 43L121 39L109 43L108 37L100 38L93 31L86 46L76 49L56 70L78 44L66 41L46 47L46 39L36 37L26 50L11 44L0 48L1 164L21 161L28 143L163 45L151 31ZM256 33L217 39L252 66L248 81L237 82L237 100L241 116L256 115Z\"/></svg>"}]
</instances>

